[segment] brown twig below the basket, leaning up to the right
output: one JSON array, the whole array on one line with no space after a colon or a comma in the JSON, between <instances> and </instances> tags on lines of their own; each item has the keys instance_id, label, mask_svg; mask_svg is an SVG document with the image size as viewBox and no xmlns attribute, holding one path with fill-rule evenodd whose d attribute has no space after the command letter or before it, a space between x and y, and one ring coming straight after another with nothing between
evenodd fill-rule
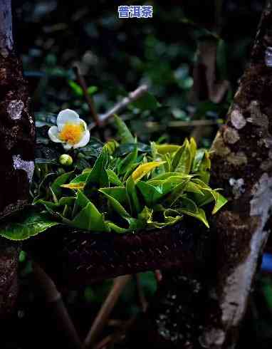
<instances>
[{"instance_id":1,"label":"brown twig below the basket, leaning up to the right","mask_svg":"<svg viewBox=\"0 0 272 349\"><path fill-rule=\"evenodd\" d=\"M123 288L127 284L127 281L130 280L130 278L130 275L115 278L113 287L110 290L108 297L105 299L103 306L100 308L100 311L98 312L98 315L93 321L93 325L91 326L88 335L85 338L83 348L90 348L90 346L94 343L95 339L101 333L101 331L108 322L108 318L110 316L111 311L113 310L113 307L115 306L115 303L117 302L120 294L122 293Z\"/></svg>"}]
</instances>

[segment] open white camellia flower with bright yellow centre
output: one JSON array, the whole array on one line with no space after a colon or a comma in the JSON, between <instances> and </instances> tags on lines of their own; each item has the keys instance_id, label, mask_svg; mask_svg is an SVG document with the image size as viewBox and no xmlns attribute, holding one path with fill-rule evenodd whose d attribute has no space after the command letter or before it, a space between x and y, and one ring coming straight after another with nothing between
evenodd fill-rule
<instances>
[{"instance_id":1,"label":"open white camellia flower with bright yellow centre","mask_svg":"<svg viewBox=\"0 0 272 349\"><path fill-rule=\"evenodd\" d=\"M53 142L63 143L65 150L85 147L90 140L85 121L70 109L58 113L57 125L49 128L48 136Z\"/></svg>"}]
</instances>

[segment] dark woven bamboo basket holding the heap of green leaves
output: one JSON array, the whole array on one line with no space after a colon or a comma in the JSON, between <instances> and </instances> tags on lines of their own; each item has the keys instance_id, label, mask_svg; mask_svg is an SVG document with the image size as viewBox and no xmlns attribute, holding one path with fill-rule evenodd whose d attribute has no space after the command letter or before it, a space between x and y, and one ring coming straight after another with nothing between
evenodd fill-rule
<instances>
[{"instance_id":1,"label":"dark woven bamboo basket holding the heap of green leaves","mask_svg":"<svg viewBox=\"0 0 272 349\"><path fill-rule=\"evenodd\" d=\"M137 234L98 234L58 226L30 239L27 248L56 283L77 286L155 269L199 273L209 256L210 239L201 224L184 219Z\"/></svg>"}]
</instances>

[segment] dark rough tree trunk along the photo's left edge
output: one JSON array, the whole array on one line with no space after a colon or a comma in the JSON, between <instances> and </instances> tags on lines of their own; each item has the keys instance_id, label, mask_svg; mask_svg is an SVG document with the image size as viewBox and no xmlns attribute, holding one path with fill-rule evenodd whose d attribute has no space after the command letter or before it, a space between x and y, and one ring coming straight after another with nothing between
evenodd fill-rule
<instances>
[{"instance_id":1,"label":"dark rough tree trunk along the photo's left edge","mask_svg":"<svg viewBox=\"0 0 272 349\"><path fill-rule=\"evenodd\" d=\"M35 128L21 62L14 51L11 0L0 0L0 219L28 202ZM0 240L0 318L16 300L20 245Z\"/></svg>"}]
</instances>

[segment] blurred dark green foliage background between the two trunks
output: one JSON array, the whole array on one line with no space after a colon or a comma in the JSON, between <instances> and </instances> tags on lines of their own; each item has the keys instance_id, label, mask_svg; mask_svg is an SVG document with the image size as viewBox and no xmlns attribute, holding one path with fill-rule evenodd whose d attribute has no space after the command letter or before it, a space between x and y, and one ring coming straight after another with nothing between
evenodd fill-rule
<instances>
[{"instance_id":1,"label":"blurred dark green foliage background between the two trunks","mask_svg":"<svg viewBox=\"0 0 272 349\"><path fill-rule=\"evenodd\" d=\"M170 134L169 121L224 118L231 100L229 94L219 104L192 102L199 41L216 38L218 78L230 80L234 90L263 1L223 1L220 21L211 0L183 1L181 6L176 1L148 1L154 6L153 19L118 19L117 6L132 2L15 1L17 45L33 88L33 110L57 113L72 108L88 117L88 105L72 69L77 63L98 113L105 113L128 91L147 83L160 108L142 111L135 103L125 110L125 119L141 140L149 139L151 132L154 140L164 134L168 141L182 142L192 127L172 128ZM220 30L216 28L219 24ZM147 121L159 122L160 129L145 127ZM211 134L215 131L216 126ZM200 143L209 145L209 135Z\"/></svg>"}]
</instances>

